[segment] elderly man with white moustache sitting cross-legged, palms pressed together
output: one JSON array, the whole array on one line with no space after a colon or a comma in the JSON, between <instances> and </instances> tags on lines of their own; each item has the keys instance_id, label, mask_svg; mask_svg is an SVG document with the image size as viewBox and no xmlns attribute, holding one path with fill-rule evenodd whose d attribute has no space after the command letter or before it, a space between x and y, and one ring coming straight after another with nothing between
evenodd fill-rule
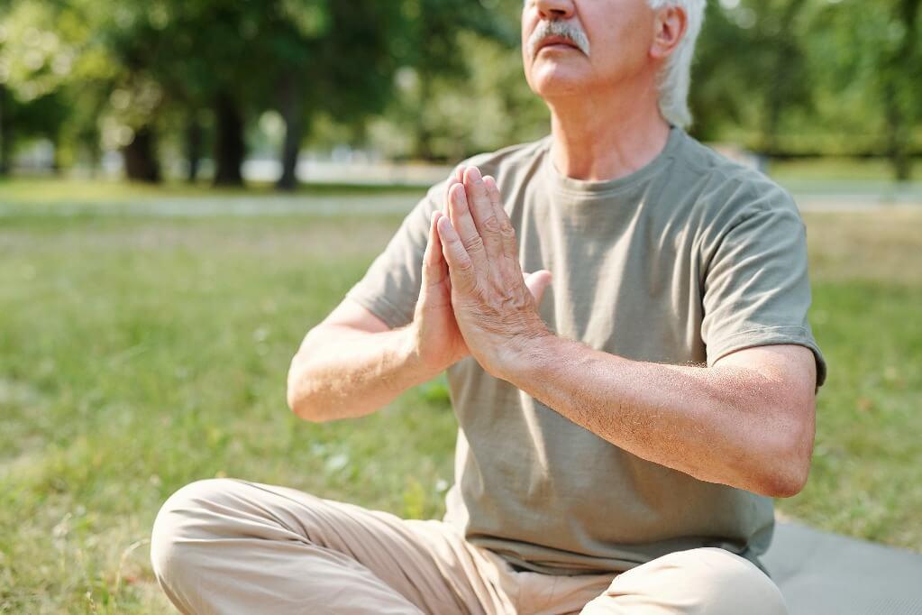
<instances>
[{"instance_id":1,"label":"elderly man with white moustache sitting cross-legged, palms pressed together","mask_svg":"<svg viewBox=\"0 0 922 615\"><path fill-rule=\"evenodd\" d=\"M292 361L318 421L447 370L443 520L194 483L151 547L179 609L786 612L759 555L825 365L797 207L682 129L703 5L527 0L550 136L434 186Z\"/></svg>"}]
</instances>

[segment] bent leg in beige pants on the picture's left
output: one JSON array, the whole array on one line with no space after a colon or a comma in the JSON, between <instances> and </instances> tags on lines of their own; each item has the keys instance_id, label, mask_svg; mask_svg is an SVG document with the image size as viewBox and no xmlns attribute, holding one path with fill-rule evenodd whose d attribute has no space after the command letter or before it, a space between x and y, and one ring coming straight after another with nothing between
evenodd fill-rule
<instances>
[{"instance_id":1,"label":"bent leg in beige pants on the picture's left","mask_svg":"<svg viewBox=\"0 0 922 615\"><path fill-rule=\"evenodd\" d=\"M151 562L184 613L511 612L492 562L442 521L233 479L174 493Z\"/></svg>"}]
</instances>

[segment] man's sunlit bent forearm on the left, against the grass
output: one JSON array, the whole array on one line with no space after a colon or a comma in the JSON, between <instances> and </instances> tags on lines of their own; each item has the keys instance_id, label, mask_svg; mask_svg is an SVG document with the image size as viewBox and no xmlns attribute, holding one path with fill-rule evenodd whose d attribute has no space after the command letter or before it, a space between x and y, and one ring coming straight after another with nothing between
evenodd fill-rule
<instances>
[{"instance_id":1,"label":"man's sunlit bent forearm on the left, against the grass","mask_svg":"<svg viewBox=\"0 0 922 615\"><path fill-rule=\"evenodd\" d=\"M407 328L380 333L344 326L315 329L291 361L288 402L305 420L371 414L437 373L415 355Z\"/></svg>"}]
</instances>

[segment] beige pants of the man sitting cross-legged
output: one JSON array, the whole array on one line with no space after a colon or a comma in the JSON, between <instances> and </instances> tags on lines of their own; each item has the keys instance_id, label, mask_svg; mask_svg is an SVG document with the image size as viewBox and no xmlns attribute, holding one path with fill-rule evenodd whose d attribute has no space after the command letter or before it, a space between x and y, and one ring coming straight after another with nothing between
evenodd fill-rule
<instances>
[{"instance_id":1,"label":"beige pants of the man sitting cross-legged","mask_svg":"<svg viewBox=\"0 0 922 615\"><path fill-rule=\"evenodd\" d=\"M150 551L186 613L787 612L774 583L727 550L677 551L621 574L519 572L442 521L231 479L173 494Z\"/></svg>"}]
</instances>

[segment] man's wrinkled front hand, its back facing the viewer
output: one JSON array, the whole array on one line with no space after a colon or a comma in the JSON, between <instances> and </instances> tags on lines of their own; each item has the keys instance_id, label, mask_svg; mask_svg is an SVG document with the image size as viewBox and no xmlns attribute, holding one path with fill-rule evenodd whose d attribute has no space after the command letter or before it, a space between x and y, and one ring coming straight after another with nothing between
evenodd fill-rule
<instances>
[{"instance_id":1,"label":"man's wrinkled front hand, its back facing the viewer","mask_svg":"<svg viewBox=\"0 0 922 615\"><path fill-rule=\"evenodd\" d=\"M503 378L530 341L552 335L538 314L550 271L526 279L496 181L481 177L477 167L458 177L448 190L447 217L433 214L451 277L452 307L471 354Z\"/></svg>"}]
</instances>

